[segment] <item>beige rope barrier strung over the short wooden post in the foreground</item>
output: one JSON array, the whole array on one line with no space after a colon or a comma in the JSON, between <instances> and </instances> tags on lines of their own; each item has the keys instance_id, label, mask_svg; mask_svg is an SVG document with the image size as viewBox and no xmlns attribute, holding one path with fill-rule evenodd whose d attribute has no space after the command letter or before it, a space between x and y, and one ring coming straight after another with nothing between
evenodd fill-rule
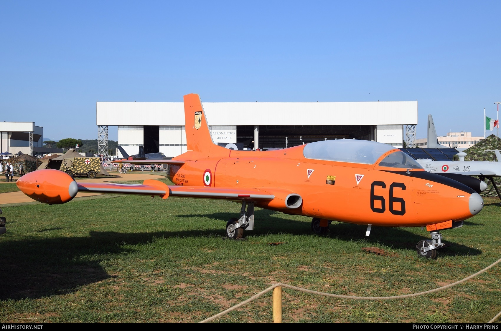
<instances>
[{"instance_id":1,"label":"beige rope barrier strung over the short wooden post in the foreground","mask_svg":"<svg viewBox=\"0 0 501 331\"><path fill-rule=\"evenodd\" d=\"M206 323L206 322L210 322L210 321L212 321L212 320L214 320L216 318L219 318L220 316L222 316L222 315L224 315L224 314L226 314L226 313L228 313L230 311L233 311L233 310L241 307L242 305L244 305L244 304L246 304L246 303L248 303L250 301L253 301L253 300L259 298L260 296L268 293L269 291L271 291L272 289L274 289L275 287L278 287L278 286L282 286L282 287L294 289L294 290L301 291L301 292L306 292L306 293L311 293L311 294L317 294L317 295L322 295L322 296L336 297L336 298L341 298L341 299L354 299L354 300L391 300L391 299L403 299L403 298L407 298L407 297L412 297L412 296L418 296L418 295L433 293L433 292L436 292L436 291L439 291L439 290L442 290L442 289L446 289L446 288L452 287L454 285L460 284L460 283L462 283L462 282L464 282L464 281L466 281L468 279L473 278L476 275L479 275L482 272L487 271L488 269L490 269L491 267L493 267L494 265L496 265L499 262L501 262L501 258L499 258L497 261L495 261L494 263L490 264L489 266L481 269L480 271L475 272L472 275L469 275L466 278L463 278L463 279L458 280L456 282L453 282L453 283L450 283L450 284L447 284L447 285L444 285L444 286L441 286L441 287L437 287L437 288L434 288L434 289L429 289L427 291L422 291L422 292L417 292L417 293L410 293L410 294L404 294L404 295L392 295L392 296L355 296L355 295L342 295L342 294L333 294L333 293L325 293L325 292L314 291L314 290L311 290L311 289L307 289L307 288L303 288L303 287L297 287L297 286L292 286L292 285L289 285L289 284L284 284L284 283L279 282L279 283L275 283L275 284L271 285L270 287L268 287L267 289L259 292L258 294L249 297L245 301L237 303L234 306L231 306L228 309L226 309L224 311L221 311L218 314L215 314L213 316L205 318L204 320L200 321L199 323ZM496 316L494 316L494 318L492 318L490 322L494 321L499 315L501 315L501 311Z\"/></svg>"}]
</instances>

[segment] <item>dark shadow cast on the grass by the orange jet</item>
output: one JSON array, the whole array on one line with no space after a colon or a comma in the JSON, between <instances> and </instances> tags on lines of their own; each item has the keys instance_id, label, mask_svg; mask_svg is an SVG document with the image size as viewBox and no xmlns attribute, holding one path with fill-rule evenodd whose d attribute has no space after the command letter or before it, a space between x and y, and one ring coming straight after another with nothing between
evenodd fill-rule
<instances>
[{"instance_id":1,"label":"dark shadow cast on the grass by the orange jet","mask_svg":"<svg viewBox=\"0 0 501 331\"><path fill-rule=\"evenodd\" d=\"M273 233L290 233L295 235L312 235L310 224L304 221L277 217L274 211L258 210L256 212L256 230L252 235ZM209 217L225 223L234 216L233 213L213 213L204 215L186 215L186 217ZM177 217L184 217L177 215ZM41 229L40 232L59 228ZM426 232L418 235L402 228L374 227L369 237L365 236L365 226L333 223L328 237L346 241L365 240L370 245L384 244L393 248L414 250L415 244L427 238ZM445 232L446 233L446 232ZM224 224L220 230L180 230L140 233L121 233L110 231L91 231L86 237L51 237L29 238L0 242L0 300L39 298L49 295L65 294L76 290L79 286L104 280L109 275L99 264L102 259L113 254L128 252L124 245L148 243L160 237L213 236L225 237ZM481 251L454 243L441 249L441 255L477 255ZM100 258L99 255L103 257ZM83 256L98 256L93 261Z\"/></svg>"}]
</instances>

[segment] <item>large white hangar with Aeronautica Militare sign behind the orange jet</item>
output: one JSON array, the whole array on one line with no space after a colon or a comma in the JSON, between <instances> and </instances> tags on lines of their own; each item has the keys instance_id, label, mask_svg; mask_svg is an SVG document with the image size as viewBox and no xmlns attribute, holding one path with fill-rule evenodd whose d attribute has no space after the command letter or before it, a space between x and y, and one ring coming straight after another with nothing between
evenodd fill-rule
<instances>
[{"instance_id":1,"label":"large white hangar with Aeronautica Militare sign behind the orange jet","mask_svg":"<svg viewBox=\"0 0 501 331\"><path fill-rule=\"evenodd\" d=\"M244 148L290 147L324 139L375 140L414 146L417 101L203 102L214 143ZM100 154L108 150L108 126L129 155L177 156L186 151L182 102L97 102ZM101 152L103 151L103 152Z\"/></svg>"}]
</instances>

